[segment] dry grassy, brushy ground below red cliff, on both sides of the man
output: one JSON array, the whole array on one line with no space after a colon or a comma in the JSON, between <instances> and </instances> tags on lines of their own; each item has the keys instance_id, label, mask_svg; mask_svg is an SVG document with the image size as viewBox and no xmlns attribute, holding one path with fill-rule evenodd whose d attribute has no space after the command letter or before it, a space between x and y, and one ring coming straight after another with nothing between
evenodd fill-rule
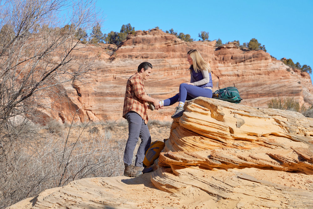
<instances>
[{"instance_id":1,"label":"dry grassy, brushy ground below red cliff, on both sides of the man","mask_svg":"<svg viewBox=\"0 0 313 209\"><path fill-rule=\"evenodd\" d=\"M155 121L150 132L152 141L163 140L170 126ZM121 120L73 124L70 130L52 121L17 138L9 155L0 160L0 208L72 180L122 175L127 137L127 121Z\"/></svg>"}]
</instances>

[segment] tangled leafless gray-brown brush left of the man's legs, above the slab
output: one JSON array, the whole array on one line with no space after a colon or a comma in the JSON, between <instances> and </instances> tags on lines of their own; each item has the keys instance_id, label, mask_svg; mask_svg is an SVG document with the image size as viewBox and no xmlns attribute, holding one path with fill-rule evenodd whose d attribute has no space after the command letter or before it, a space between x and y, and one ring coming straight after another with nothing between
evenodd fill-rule
<instances>
[{"instance_id":1,"label":"tangled leafless gray-brown brush left of the man's legs, above the slab","mask_svg":"<svg viewBox=\"0 0 313 209\"><path fill-rule=\"evenodd\" d=\"M42 133L41 133L42 134ZM41 191L88 177L122 174L124 140L112 143L110 132L98 137L79 137L68 143L67 133L17 138L0 161L0 205L7 207ZM39 138L39 139L38 139Z\"/></svg>"}]
</instances>

